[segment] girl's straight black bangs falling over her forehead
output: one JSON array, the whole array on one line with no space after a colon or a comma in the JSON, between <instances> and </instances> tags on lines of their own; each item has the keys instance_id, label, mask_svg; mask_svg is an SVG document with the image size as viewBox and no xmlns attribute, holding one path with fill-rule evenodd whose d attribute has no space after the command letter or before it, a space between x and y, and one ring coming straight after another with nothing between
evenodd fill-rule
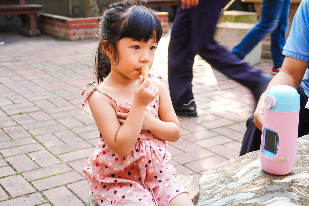
<instances>
[{"instance_id":1,"label":"girl's straight black bangs falling over her forehead","mask_svg":"<svg viewBox=\"0 0 309 206\"><path fill-rule=\"evenodd\" d=\"M124 25L121 39L127 37L144 42L153 39L155 42L159 42L161 36L161 23L155 14L139 6L133 7L129 12L127 25Z\"/></svg>"}]
</instances>

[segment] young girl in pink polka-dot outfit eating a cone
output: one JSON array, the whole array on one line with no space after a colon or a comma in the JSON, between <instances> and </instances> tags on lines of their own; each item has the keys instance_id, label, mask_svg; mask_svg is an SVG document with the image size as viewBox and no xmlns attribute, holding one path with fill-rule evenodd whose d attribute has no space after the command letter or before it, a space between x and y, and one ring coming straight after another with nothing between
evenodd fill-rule
<instances>
[{"instance_id":1,"label":"young girl in pink polka-dot outfit eating a cone","mask_svg":"<svg viewBox=\"0 0 309 206\"><path fill-rule=\"evenodd\" d=\"M85 86L92 89L82 106L88 100L100 132L84 167L99 205L193 205L166 149L165 141L180 137L168 90L151 75L143 81L140 71L152 66L161 36L158 18L137 2L116 2L103 13L96 60L101 84Z\"/></svg>"}]
</instances>

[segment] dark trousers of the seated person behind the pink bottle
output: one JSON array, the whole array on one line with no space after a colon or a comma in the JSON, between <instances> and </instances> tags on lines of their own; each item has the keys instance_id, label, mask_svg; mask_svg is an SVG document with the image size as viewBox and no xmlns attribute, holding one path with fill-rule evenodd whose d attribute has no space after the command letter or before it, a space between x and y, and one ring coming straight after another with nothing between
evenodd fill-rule
<instances>
[{"instance_id":1,"label":"dark trousers of the seated person behind the pink bottle","mask_svg":"<svg viewBox=\"0 0 309 206\"><path fill-rule=\"evenodd\" d=\"M309 109L305 108L308 97L303 88L299 87L297 91L300 95L298 137L302 137L309 134ZM243 136L239 156L260 149L262 132L255 126L253 119L252 115L247 120L247 130Z\"/></svg>"}]
</instances>

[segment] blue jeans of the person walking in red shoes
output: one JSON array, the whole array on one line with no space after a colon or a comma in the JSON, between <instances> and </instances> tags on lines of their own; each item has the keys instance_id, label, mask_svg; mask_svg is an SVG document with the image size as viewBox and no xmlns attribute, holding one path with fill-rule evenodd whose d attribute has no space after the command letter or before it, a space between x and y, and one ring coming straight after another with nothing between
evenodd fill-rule
<instances>
[{"instance_id":1,"label":"blue jeans of the person walking in red shoes","mask_svg":"<svg viewBox=\"0 0 309 206\"><path fill-rule=\"evenodd\" d=\"M240 60L251 52L265 36L271 33L271 54L275 67L281 67L286 43L286 28L289 24L290 0L263 0L261 21L235 46L231 53Z\"/></svg>"}]
</instances>

